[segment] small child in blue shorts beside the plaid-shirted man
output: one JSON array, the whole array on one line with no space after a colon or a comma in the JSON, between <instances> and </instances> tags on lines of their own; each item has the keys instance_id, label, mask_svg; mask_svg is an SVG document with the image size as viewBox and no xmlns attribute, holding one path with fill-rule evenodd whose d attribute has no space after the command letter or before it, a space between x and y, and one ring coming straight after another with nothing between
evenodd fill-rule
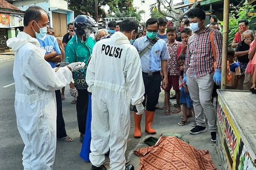
<instances>
[{"instance_id":1,"label":"small child in blue shorts beside the plaid-shirted man","mask_svg":"<svg viewBox=\"0 0 256 170\"><path fill-rule=\"evenodd\" d=\"M185 63L185 54L181 54L178 58L178 63L180 65L180 81L182 82L181 84L181 92L180 92L180 104L182 104L182 112L183 116L181 118L180 123L178 125L183 126L185 124L190 123L188 120L189 117L192 117L192 110L193 110L193 101L190 98L189 94L189 89L187 87L187 80L183 79L183 74L184 74L184 63Z\"/></svg>"}]
</instances>

